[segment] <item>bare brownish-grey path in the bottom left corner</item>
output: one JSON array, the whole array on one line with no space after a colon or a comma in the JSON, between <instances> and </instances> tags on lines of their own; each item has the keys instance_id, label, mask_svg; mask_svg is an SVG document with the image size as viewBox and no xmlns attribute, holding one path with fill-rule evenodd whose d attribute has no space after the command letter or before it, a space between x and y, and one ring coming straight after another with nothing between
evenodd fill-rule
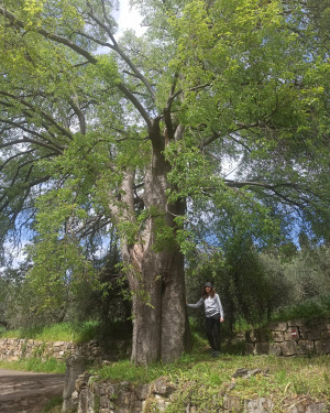
<instances>
[{"instance_id":1,"label":"bare brownish-grey path in the bottom left corner","mask_svg":"<svg viewBox=\"0 0 330 413\"><path fill-rule=\"evenodd\" d=\"M63 385L64 374L0 369L0 413L41 413Z\"/></svg>"}]
</instances>

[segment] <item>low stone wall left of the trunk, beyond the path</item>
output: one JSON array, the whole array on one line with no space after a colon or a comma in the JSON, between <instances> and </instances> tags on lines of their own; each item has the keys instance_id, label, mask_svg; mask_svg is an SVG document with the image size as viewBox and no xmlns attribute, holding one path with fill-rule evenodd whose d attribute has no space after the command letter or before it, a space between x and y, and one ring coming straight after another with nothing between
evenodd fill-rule
<instances>
[{"instance_id":1,"label":"low stone wall left of the trunk, beyond the path","mask_svg":"<svg viewBox=\"0 0 330 413\"><path fill-rule=\"evenodd\" d=\"M65 360L68 356L82 356L87 361L101 362L103 359L116 359L125 347L124 341L113 341L107 345L106 351L96 340L75 345L67 341L44 343L33 339L3 338L0 339L0 360L14 361L31 357L38 357L43 360L50 358Z\"/></svg>"}]
</instances>

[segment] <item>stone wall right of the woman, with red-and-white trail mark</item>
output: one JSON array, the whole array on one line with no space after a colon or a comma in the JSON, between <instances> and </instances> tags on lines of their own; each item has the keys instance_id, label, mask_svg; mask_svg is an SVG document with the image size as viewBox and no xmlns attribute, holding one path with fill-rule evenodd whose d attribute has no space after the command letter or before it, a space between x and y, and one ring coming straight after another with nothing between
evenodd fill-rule
<instances>
[{"instance_id":1,"label":"stone wall right of the woman, with red-and-white trail mark","mask_svg":"<svg viewBox=\"0 0 330 413\"><path fill-rule=\"evenodd\" d=\"M328 355L330 354L330 317L272 323L266 328L245 334L248 355Z\"/></svg>"}]
</instances>

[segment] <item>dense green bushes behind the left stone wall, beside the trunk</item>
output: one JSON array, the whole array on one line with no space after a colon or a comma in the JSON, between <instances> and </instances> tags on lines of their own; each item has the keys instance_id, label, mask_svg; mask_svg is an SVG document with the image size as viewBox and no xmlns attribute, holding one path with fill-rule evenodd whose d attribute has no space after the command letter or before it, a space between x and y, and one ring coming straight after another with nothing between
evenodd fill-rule
<instances>
[{"instance_id":1,"label":"dense green bushes behind the left stone wall, beside the trunk","mask_svg":"<svg viewBox=\"0 0 330 413\"><path fill-rule=\"evenodd\" d=\"M65 254L67 260L63 257L58 264L54 256L48 259L42 253L34 262L33 273L30 264L3 271L0 314L8 328L43 327L63 320L127 322L130 302L124 296L127 280L117 267L120 258L116 243L92 267L88 263L89 273L84 267L86 260L79 260L75 249L65 249ZM69 264L75 260L78 274Z\"/></svg>"}]
</instances>

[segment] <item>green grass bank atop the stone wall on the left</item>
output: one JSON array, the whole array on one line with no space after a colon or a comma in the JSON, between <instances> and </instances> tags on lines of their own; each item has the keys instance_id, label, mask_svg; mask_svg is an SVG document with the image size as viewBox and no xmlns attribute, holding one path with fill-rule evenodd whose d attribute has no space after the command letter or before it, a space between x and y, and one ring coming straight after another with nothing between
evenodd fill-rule
<instances>
[{"instance_id":1,"label":"green grass bank atop the stone wall on the left","mask_svg":"<svg viewBox=\"0 0 330 413\"><path fill-rule=\"evenodd\" d=\"M74 341L87 343L97 336L98 322L81 324L61 323L51 326L20 328L15 330L0 330L0 338L30 338L40 341Z\"/></svg>"}]
</instances>

